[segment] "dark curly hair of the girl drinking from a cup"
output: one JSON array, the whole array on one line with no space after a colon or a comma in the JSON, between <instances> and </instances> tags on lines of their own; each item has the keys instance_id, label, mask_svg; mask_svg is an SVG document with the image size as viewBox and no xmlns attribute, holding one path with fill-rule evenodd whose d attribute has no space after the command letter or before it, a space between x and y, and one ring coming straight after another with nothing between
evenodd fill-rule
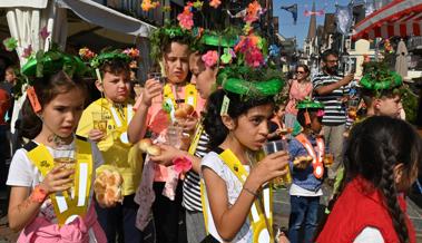
<instances>
[{"instance_id":1,"label":"dark curly hair of the girl drinking from a cup","mask_svg":"<svg viewBox=\"0 0 422 243\"><path fill-rule=\"evenodd\" d=\"M204 128L205 132L209 135L208 146L210 149L218 147L228 135L227 127L223 124L220 110L222 104L226 95L230 103L228 106L227 114L232 118L236 119L241 115L247 113L253 107L272 104L274 106L273 97L265 98L251 98L244 99L239 95L218 89L214 91L208 100L206 111L203 114L204 117Z\"/></svg>"}]
</instances>

